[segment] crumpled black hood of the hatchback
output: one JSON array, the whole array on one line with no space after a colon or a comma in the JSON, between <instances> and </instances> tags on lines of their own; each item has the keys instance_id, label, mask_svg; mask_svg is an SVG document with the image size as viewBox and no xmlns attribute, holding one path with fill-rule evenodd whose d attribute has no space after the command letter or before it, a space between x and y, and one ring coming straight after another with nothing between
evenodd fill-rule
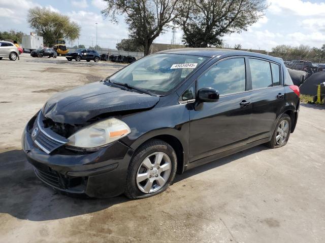
<instances>
[{"instance_id":1,"label":"crumpled black hood of the hatchback","mask_svg":"<svg viewBox=\"0 0 325 243\"><path fill-rule=\"evenodd\" d=\"M158 101L156 96L96 82L53 95L43 114L57 123L84 124L103 113L152 108Z\"/></svg>"}]
</instances>

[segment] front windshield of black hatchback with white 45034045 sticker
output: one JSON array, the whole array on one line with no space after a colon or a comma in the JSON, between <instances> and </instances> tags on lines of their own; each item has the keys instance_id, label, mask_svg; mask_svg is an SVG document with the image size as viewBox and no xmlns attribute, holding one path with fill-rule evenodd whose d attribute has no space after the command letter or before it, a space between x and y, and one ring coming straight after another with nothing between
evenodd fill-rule
<instances>
[{"instance_id":1,"label":"front windshield of black hatchback with white 45034045 sticker","mask_svg":"<svg viewBox=\"0 0 325 243\"><path fill-rule=\"evenodd\" d=\"M202 65L208 57L180 54L152 54L110 76L122 83L166 95Z\"/></svg>"}]
</instances>

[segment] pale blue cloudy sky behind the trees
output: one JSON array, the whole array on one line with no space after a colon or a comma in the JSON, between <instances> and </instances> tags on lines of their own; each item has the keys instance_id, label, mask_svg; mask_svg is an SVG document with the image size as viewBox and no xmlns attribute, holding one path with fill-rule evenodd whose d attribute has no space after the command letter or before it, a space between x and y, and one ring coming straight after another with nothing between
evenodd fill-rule
<instances>
[{"instance_id":1,"label":"pale blue cloudy sky behind the trees","mask_svg":"<svg viewBox=\"0 0 325 243\"><path fill-rule=\"evenodd\" d=\"M241 44L244 49L271 51L277 45L309 45L321 47L325 44L325 1L324 0L267 0L269 5L265 16L251 25L247 31L223 37L230 47ZM127 38L127 25L123 16L118 24L105 19L101 10L106 4L102 0L0 0L0 31L10 29L29 33L32 31L26 21L27 11L33 7L46 7L68 15L81 26L80 38L72 45L86 47L96 44L115 49L115 45ZM155 39L155 43L170 44L171 30ZM182 31L176 30L177 44L181 44Z\"/></svg>"}]
</instances>

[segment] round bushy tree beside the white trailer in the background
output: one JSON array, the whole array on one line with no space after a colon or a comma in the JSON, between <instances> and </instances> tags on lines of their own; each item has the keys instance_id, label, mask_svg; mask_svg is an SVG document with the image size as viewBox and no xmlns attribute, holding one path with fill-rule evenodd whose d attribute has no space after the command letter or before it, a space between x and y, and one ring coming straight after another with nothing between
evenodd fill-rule
<instances>
[{"instance_id":1,"label":"round bushy tree beside the white trailer in the background","mask_svg":"<svg viewBox=\"0 0 325 243\"><path fill-rule=\"evenodd\" d=\"M29 9L27 21L38 35L43 36L44 44L49 47L53 46L59 38L74 41L80 34L80 26L71 21L68 16L46 8Z\"/></svg>"}]
</instances>

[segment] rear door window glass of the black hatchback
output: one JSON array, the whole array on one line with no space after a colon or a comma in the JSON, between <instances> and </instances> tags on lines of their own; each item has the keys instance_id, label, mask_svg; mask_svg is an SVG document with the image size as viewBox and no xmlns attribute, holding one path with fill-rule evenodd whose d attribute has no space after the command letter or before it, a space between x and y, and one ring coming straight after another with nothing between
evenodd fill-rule
<instances>
[{"instance_id":1,"label":"rear door window glass of the black hatchback","mask_svg":"<svg viewBox=\"0 0 325 243\"><path fill-rule=\"evenodd\" d=\"M253 89L272 87L270 62L249 58L249 65Z\"/></svg>"}]
</instances>

